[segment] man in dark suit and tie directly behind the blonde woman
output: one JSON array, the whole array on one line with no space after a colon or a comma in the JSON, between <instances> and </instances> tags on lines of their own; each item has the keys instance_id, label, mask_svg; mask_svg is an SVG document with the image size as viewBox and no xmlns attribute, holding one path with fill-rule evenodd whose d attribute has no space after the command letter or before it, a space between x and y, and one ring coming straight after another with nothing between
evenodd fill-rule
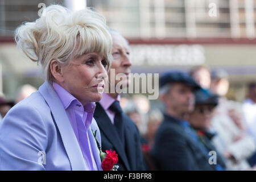
<instances>
[{"instance_id":1,"label":"man in dark suit and tie directly behind the blonde woman","mask_svg":"<svg viewBox=\"0 0 256 182\"><path fill-rule=\"evenodd\" d=\"M131 72L129 44L119 32L112 30L110 33L113 38L113 62L109 72L109 88L105 88L106 93L102 94L101 101L97 103L94 118L101 131L102 151L112 149L118 154L118 170L143 170L138 128L123 113L119 105L119 92L115 89L117 84L121 85L121 89L129 86ZM125 77L121 80L112 80L118 73L123 73Z\"/></svg>"}]
</instances>

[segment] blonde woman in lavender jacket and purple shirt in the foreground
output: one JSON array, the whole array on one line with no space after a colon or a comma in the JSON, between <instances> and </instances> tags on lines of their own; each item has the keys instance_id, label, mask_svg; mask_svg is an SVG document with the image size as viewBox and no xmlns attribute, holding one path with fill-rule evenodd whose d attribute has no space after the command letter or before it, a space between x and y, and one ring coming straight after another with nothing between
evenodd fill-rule
<instances>
[{"instance_id":1,"label":"blonde woman in lavender jacket and purple shirt in the foreground","mask_svg":"<svg viewBox=\"0 0 256 182\"><path fill-rule=\"evenodd\" d=\"M104 17L52 5L18 27L15 40L42 65L46 81L3 119L0 169L102 170L92 130L98 130L93 112L112 60Z\"/></svg>"}]
</instances>

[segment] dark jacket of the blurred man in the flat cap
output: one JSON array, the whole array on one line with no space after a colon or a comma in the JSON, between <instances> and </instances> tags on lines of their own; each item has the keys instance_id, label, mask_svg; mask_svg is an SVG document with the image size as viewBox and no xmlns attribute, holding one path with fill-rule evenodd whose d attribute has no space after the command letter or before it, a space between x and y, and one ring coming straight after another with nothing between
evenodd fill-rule
<instances>
[{"instance_id":1,"label":"dark jacket of the blurred man in the flat cap","mask_svg":"<svg viewBox=\"0 0 256 182\"><path fill-rule=\"evenodd\" d=\"M151 155L159 170L215 170L208 162L210 156L192 139L181 122L166 114L156 133Z\"/></svg>"}]
</instances>

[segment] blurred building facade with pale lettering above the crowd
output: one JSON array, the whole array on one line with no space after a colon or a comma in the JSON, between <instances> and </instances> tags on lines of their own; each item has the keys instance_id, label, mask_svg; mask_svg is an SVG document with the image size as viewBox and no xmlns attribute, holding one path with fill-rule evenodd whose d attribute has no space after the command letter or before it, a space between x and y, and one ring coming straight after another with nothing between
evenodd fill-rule
<instances>
[{"instance_id":1,"label":"blurred building facade with pale lettering above the crowd","mask_svg":"<svg viewBox=\"0 0 256 182\"><path fill-rule=\"evenodd\" d=\"M255 81L255 0L0 0L0 92L6 97L14 98L20 85L42 84L38 65L20 55L13 34L53 3L103 14L129 40L134 73L188 71L201 64L224 68L228 97L238 101Z\"/></svg>"}]
</instances>

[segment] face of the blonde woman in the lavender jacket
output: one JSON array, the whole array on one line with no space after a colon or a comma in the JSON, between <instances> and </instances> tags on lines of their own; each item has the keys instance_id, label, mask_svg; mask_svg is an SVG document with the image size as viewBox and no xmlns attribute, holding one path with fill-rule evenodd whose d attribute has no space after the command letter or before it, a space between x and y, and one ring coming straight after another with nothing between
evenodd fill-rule
<instances>
[{"instance_id":1,"label":"face of the blonde woman in the lavender jacket","mask_svg":"<svg viewBox=\"0 0 256 182\"><path fill-rule=\"evenodd\" d=\"M92 52L77 57L62 68L61 86L82 105L101 100L108 75L106 60L100 53Z\"/></svg>"}]
</instances>

